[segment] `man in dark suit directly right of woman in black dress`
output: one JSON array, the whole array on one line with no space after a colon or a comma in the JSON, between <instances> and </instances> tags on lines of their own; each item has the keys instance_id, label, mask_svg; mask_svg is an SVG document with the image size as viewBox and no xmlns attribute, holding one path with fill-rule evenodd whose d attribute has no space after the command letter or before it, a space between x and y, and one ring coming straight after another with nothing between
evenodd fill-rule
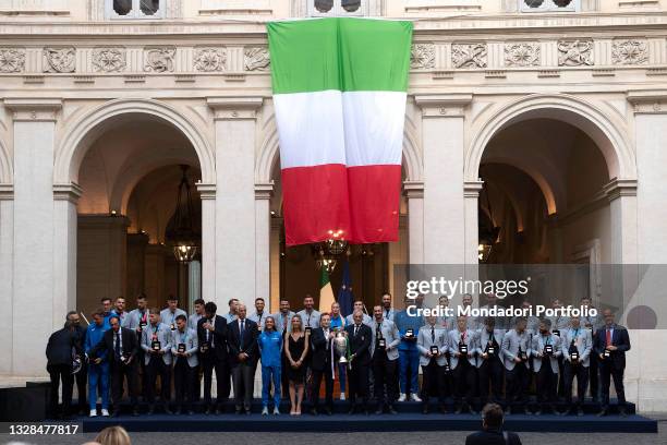
<instances>
[{"instance_id":1,"label":"man in dark suit directly right of woman in black dress","mask_svg":"<svg viewBox=\"0 0 667 445\"><path fill-rule=\"evenodd\" d=\"M325 312L319 317L319 327L313 329L311 338L312 354L311 369L313 370L313 387L311 389L311 414L317 416L319 405L319 385L325 380L325 412L331 416L333 411L333 368L331 366L331 316Z\"/></svg>"}]
</instances>

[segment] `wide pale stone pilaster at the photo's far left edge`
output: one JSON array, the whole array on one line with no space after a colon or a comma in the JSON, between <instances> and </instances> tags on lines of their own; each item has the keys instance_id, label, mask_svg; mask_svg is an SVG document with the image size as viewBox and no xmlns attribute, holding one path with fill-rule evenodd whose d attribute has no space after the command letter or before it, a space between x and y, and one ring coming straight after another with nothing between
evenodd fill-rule
<instances>
[{"instance_id":1,"label":"wide pale stone pilaster at the photo's far left edge","mask_svg":"<svg viewBox=\"0 0 667 445\"><path fill-rule=\"evenodd\" d=\"M54 131L60 99L4 99L13 117L14 203L12 318L13 335L5 353L15 375L44 374L46 340L64 323L68 305L62 288L54 287ZM56 300L58 298L58 300ZM25 321L29 320L29 335Z\"/></svg>"}]
</instances>

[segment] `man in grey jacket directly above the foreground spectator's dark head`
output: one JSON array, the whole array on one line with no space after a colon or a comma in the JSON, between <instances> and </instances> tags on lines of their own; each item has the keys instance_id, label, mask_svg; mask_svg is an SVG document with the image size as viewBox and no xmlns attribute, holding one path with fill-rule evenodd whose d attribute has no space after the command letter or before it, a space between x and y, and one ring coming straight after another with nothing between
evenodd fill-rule
<instances>
[{"instance_id":1,"label":"man in grey jacket directly above the foreground spectator's dark head","mask_svg":"<svg viewBox=\"0 0 667 445\"><path fill-rule=\"evenodd\" d=\"M482 405L500 404L502 399L502 345L504 330L496 328L498 317L484 318L477 340L477 375L480 377L480 398ZM489 392L490 387L490 392Z\"/></svg>"}]
</instances>

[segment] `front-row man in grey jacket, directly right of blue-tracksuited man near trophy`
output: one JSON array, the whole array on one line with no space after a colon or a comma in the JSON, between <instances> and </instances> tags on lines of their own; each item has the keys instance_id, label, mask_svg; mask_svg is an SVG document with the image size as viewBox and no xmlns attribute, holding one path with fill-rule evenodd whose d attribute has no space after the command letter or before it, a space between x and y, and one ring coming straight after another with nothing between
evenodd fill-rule
<instances>
[{"instance_id":1,"label":"front-row man in grey jacket, directly right of blue-tracksuited man near trophy","mask_svg":"<svg viewBox=\"0 0 667 445\"><path fill-rule=\"evenodd\" d=\"M449 335L446 329L436 324L434 315L426 316L426 325L417 334L417 350L422 365L422 412L428 413L428 399L437 395L440 412L446 413L445 398L447 386L445 368L449 351Z\"/></svg>"}]
</instances>

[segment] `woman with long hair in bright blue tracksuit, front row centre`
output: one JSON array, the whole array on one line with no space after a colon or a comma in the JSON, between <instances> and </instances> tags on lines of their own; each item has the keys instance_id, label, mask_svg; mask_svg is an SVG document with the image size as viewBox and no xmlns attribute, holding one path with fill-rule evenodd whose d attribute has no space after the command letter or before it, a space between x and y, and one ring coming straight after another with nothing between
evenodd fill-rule
<instances>
[{"instance_id":1,"label":"woman with long hair in bright blue tracksuit, front row centre","mask_svg":"<svg viewBox=\"0 0 667 445\"><path fill-rule=\"evenodd\" d=\"M264 329L257 338L259 357L262 359L262 414L268 416L269 386L274 383L274 414L280 410L280 356L282 352L282 335L276 330L276 321L267 316Z\"/></svg>"}]
</instances>

